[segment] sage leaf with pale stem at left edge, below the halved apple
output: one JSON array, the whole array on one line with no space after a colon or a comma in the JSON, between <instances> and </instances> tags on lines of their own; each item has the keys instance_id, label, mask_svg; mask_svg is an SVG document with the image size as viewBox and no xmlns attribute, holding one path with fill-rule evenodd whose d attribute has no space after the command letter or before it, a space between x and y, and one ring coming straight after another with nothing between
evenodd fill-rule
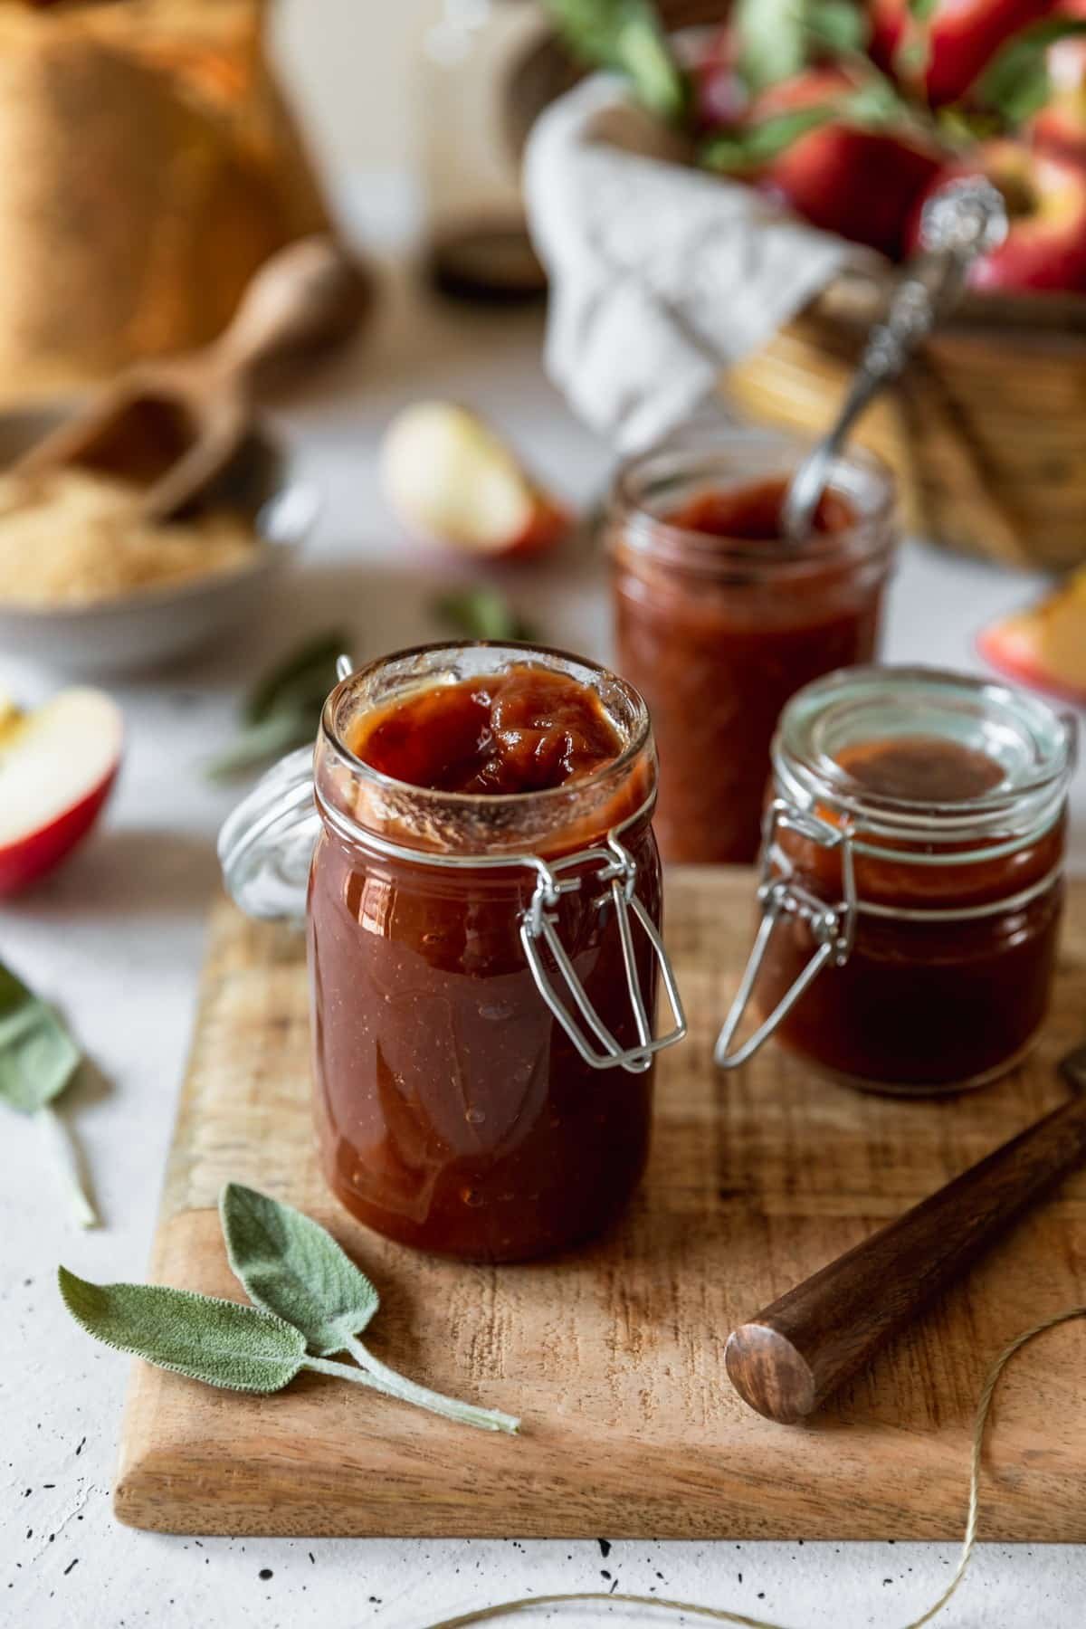
<instances>
[{"instance_id":1,"label":"sage leaf with pale stem at left edge, below the halved apple","mask_svg":"<svg viewBox=\"0 0 1086 1629\"><path fill-rule=\"evenodd\" d=\"M52 1007L0 963L0 1100L31 1114L63 1183L80 1227L96 1227L80 1161L54 1101L72 1083L83 1056Z\"/></svg>"}]
</instances>

